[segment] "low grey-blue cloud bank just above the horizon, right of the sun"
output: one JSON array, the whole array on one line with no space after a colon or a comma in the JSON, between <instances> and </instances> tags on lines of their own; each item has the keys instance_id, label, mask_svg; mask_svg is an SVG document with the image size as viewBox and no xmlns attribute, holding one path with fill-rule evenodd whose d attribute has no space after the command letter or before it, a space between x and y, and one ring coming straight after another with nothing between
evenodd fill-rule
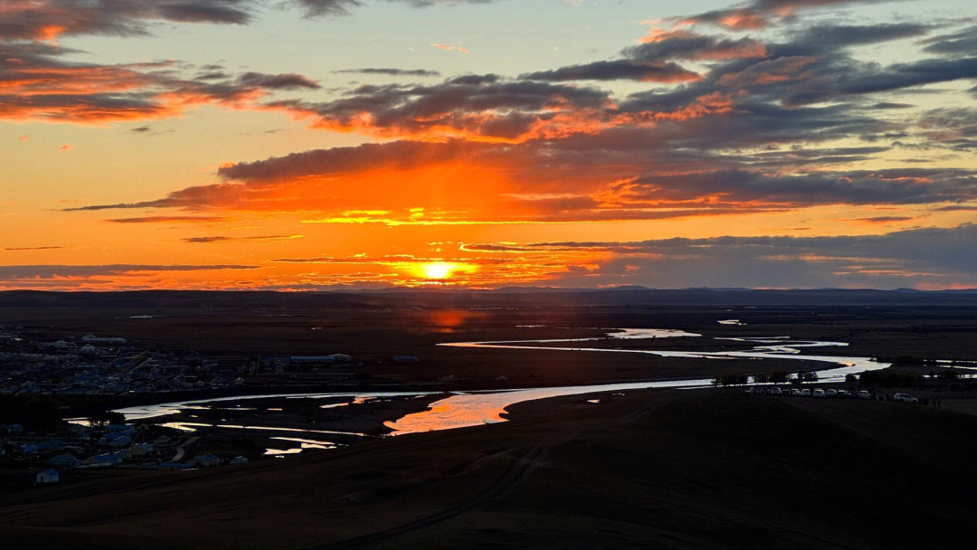
<instances>
[{"instance_id":1,"label":"low grey-blue cloud bank just above the horizon, right of the sun","mask_svg":"<svg viewBox=\"0 0 977 550\"><path fill-rule=\"evenodd\" d=\"M661 288L977 286L977 264L971 261L977 253L975 225L860 236L489 243L467 244L465 249L517 257L541 252L598 254L591 260L598 269L553 279L567 286L591 285L595 278Z\"/></svg>"}]
</instances>

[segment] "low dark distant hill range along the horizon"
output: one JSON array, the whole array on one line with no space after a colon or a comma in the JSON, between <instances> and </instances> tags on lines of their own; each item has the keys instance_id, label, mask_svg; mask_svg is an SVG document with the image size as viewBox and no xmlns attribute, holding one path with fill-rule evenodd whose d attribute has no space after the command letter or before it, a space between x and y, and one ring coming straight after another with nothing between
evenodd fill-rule
<instances>
[{"instance_id":1,"label":"low dark distant hill range along the horizon","mask_svg":"<svg viewBox=\"0 0 977 550\"><path fill-rule=\"evenodd\" d=\"M492 290L387 288L319 292L140 290L115 292L0 292L0 308L239 308L239 307L502 307L547 303L577 306L828 306L934 305L977 306L977 289L922 291L911 288L654 289L623 286L605 289L511 286Z\"/></svg>"}]
</instances>

